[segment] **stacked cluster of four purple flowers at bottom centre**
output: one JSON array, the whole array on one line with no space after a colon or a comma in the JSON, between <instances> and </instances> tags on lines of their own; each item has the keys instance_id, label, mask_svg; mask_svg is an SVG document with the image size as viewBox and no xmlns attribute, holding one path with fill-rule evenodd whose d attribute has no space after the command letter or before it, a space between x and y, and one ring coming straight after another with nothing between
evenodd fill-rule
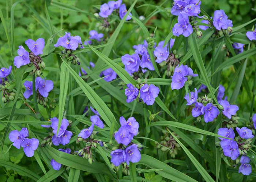
<instances>
[{"instance_id":1,"label":"stacked cluster of four purple flowers at bottom centre","mask_svg":"<svg viewBox=\"0 0 256 182\"><path fill-rule=\"evenodd\" d=\"M120 117L121 127L115 133L114 137L118 144L123 144L117 147L118 149L114 150L112 148L111 152L111 162L115 166L119 166L121 163L126 162L129 165L129 162L135 163L139 162L141 155L138 149L138 145L131 144L133 136L136 136L139 132L139 123L136 122L134 117L128 118L126 121L123 116ZM129 146L128 146L129 145Z\"/></svg>"}]
</instances>

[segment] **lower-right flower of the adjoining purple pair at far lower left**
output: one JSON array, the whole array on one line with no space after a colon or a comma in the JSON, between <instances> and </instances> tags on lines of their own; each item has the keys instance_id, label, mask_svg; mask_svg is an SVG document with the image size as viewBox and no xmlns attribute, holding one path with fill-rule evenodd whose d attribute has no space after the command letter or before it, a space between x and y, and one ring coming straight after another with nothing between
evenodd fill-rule
<instances>
[{"instance_id":1,"label":"lower-right flower of the adjoining purple pair at far lower left","mask_svg":"<svg viewBox=\"0 0 256 182\"><path fill-rule=\"evenodd\" d=\"M36 138L25 138L21 143L20 146L23 147L23 151L25 152L27 157L33 157L34 151L37 150L39 144L39 140Z\"/></svg>"}]
</instances>

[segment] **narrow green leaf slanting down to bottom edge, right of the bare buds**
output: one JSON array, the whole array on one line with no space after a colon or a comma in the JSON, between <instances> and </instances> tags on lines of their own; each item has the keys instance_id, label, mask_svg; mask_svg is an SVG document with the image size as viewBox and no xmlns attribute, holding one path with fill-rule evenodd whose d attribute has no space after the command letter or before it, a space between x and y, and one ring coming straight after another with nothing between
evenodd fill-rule
<instances>
[{"instance_id":1,"label":"narrow green leaf slanting down to bottom edge, right of the bare buds","mask_svg":"<svg viewBox=\"0 0 256 182\"><path fill-rule=\"evenodd\" d=\"M168 129L167 129L168 130ZM169 130L168 130L169 131ZM169 131L170 132L170 131ZM203 166L196 160L196 158L191 154L191 152L187 149L187 147L185 147L180 141L179 139L172 134L172 132L170 132L170 134L173 136L173 138L178 142L178 144L180 144L181 148L185 151L185 153L188 155L189 159L191 160L191 162L195 165L196 169L199 171L199 173L203 176L203 178L206 181L211 181L214 182L214 180L212 179L212 177L207 173L207 171L203 168Z\"/></svg>"}]
</instances>

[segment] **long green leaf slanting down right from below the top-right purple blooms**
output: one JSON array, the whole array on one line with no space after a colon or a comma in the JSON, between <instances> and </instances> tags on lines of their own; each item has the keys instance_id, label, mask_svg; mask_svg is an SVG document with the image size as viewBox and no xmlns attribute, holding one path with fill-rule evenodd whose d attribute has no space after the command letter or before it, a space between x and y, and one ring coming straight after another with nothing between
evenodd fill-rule
<instances>
[{"instance_id":1,"label":"long green leaf slanting down right from below the top-right purple blooms","mask_svg":"<svg viewBox=\"0 0 256 182\"><path fill-rule=\"evenodd\" d=\"M197 40L196 40L196 34L193 33L192 35L190 35L188 38L188 41L189 41L190 49L191 49L192 55L195 59L196 65L199 68L204 81L206 82L206 86L207 86L208 90L210 91L211 97L215 101L215 103L218 104L218 101L214 95L214 92L211 89L211 84L210 84L210 80L209 80L206 68L204 67L204 62L203 62L202 56L200 54L200 50L199 50Z\"/></svg>"}]
</instances>

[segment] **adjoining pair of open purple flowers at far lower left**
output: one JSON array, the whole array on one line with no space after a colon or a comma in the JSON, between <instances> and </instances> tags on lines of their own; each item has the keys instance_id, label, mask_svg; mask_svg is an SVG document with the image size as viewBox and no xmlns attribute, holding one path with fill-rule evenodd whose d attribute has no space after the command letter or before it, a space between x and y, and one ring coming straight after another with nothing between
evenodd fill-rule
<instances>
[{"instance_id":1,"label":"adjoining pair of open purple flowers at far lower left","mask_svg":"<svg viewBox=\"0 0 256 182\"><path fill-rule=\"evenodd\" d=\"M27 157L33 157L34 151L37 150L39 140L36 138L29 137L29 130L27 128L22 128L20 131L13 130L9 134L9 139L13 142L13 146L17 149L23 147L23 151Z\"/></svg>"}]
</instances>

